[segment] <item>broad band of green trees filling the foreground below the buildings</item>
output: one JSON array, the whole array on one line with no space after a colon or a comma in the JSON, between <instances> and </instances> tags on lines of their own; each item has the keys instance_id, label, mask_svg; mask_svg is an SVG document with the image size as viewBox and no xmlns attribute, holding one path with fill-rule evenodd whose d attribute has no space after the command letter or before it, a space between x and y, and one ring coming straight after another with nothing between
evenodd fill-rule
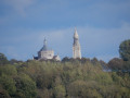
<instances>
[{"instance_id":1,"label":"broad band of green trees filling the foreground below the buildings","mask_svg":"<svg viewBox=\"0 0 130 98\"><path fill-rule=\"evenodd\" d=\"M8 60L0 53L0 98L130 98L129 60ZM104 72L109 66L113 72ZM130 70L130 69L129 69Z\"/></svg>"}]
</instances>

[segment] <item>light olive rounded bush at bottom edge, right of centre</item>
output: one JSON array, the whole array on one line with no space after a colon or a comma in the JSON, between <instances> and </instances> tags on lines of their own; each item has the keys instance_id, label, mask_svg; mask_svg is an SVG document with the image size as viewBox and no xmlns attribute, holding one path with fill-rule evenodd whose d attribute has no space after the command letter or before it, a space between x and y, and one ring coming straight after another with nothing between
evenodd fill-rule
<instances>
[{"instance_id":1,"label":"light olive rounded bush at bottom edge, right of centre","mask_svg":"<svg viewBox=\"0 0 130 98\"><path fill-rule=\"evenodd\" d=\"M75 81L68 86L69 97L102 98L96 82Z\"/></svg>"}]
</instances>

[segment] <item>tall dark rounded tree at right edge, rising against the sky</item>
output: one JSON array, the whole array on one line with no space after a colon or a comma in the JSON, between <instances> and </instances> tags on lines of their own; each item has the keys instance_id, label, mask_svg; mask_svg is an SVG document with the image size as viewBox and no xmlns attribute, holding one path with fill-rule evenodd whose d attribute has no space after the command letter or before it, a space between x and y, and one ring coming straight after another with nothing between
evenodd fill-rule
<instances>
[{"instance_id":1,"label":"tall dark rounded tree at right edge, rising against the sky","mask_svg":"<svg viewBox=\"0 0 130 98\"><path fill-rule=\"evenodd\" d=\"M125 40L120 44L119 53L125 61L130 60L130 39Z\"/></svg>"}]
</instances>

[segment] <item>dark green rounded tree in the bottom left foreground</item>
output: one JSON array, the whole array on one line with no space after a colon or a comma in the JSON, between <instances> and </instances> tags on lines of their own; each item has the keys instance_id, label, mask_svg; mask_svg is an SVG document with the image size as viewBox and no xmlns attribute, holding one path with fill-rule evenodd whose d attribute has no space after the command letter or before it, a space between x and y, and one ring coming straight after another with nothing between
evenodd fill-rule
<instances>
[{"instance_id":1,"label":"dark green rounded tree in the bottom left foreground","mask_svg":"<svg viewBox=\"0 0 130 98\"><path fill-rule=\"evenodd\" d=\"M16 97L18 98L35 98L36 83L26 74L21 73L15 77Z\"/></svg>"}]
</instances>

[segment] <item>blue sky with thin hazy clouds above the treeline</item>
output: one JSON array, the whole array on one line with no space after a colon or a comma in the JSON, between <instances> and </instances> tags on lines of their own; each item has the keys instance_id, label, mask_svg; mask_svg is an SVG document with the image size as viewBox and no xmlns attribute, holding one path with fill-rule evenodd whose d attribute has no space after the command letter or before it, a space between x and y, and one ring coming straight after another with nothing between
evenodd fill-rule
<instances>
[{"instance_id":1,"label":"blue sky with thin hazy clouds above the treeline","mask_svg":"<svg viewBox=\"0 0 130 98\"><path fill-rule=\"evenodd\" d=\"M130 0L0 0L0 52L26 61L43 46L73 57L75 27L81 54L108 62L130 39Z\"/></svg>"}]
</instances>

